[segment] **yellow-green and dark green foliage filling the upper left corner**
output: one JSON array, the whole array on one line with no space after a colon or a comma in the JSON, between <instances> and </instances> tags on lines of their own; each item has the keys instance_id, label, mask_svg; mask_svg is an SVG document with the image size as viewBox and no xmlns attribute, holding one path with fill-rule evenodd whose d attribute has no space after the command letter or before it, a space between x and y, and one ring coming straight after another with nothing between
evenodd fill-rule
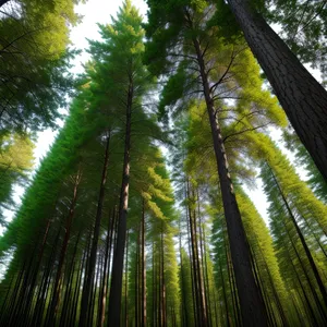
<instances>
[{"instance_id":1,"label":"yellow-green and dark green foliage filling the upper left corner","mask_svg":"<svg viewBox=\"0 0 327 327\"><path fill-rule=\"evenodd\" d=\"M69 26L76 1L19 1L3 7L0 29L0 132L55 126L73 80ZM2 8L1 8L2 9Z\"/></svg>"}]
</instances>

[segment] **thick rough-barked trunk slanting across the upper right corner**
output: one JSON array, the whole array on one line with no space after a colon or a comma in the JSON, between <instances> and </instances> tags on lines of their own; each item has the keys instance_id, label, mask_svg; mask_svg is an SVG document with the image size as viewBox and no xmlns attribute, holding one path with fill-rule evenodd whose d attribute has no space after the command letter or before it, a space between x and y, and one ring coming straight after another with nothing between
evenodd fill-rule
<instances>
[{"instance_id":1,"label":"thick rough-barked trunk slanting across the upper right corner","mask_svg":"<svg viewBox=\"0 0 327 327\"><path fill-rule=\"evenodd\" d=\"M327 92L250 0L228 2L296 134L327 180Z\"/></svg>"}]
</instances>

